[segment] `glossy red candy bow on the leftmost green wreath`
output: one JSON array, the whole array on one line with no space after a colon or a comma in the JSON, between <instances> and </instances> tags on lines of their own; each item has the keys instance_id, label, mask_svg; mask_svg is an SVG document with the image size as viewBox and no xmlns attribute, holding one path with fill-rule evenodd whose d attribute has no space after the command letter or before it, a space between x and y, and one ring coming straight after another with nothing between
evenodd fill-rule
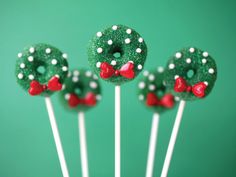
<instances>
[{"instance_id":1,"label":"glossy red candy bow on the leftmost green wreath","mask_svg":"<svg viewBox=\"0 0 236 177\"><path fill-rule=\"evenodd\" d=\"M53 76L49 81L48 85L40 84L38 81L33 80L30 82L30 88L28 90L29 94L32 96L39 95L45 90L50 91L59 91L62 89L62 84L59 81L59 78Z\"/></svg>"}]
</instances>

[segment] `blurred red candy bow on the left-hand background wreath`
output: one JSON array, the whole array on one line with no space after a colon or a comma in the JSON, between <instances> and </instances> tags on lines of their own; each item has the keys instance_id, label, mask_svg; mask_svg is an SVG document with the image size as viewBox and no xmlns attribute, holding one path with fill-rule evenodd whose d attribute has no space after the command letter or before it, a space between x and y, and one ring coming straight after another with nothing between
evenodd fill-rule
<instances>
[{"instance_id":1,"label":"blurred red candy bow on the left-hand background wreath","mask_svg":"<svg viewBox=\"0 0 236 177\"><path fill-rule=\"evenodd\" d=\"M78 106L79 104L83 104L86 106L95 106L96 103L97 103L96 96L92 92L87 93L85 98L79 98L76 94L72 93L70 94L68 100L68 104L72 108Z\"/></svg>"}]
</instances>

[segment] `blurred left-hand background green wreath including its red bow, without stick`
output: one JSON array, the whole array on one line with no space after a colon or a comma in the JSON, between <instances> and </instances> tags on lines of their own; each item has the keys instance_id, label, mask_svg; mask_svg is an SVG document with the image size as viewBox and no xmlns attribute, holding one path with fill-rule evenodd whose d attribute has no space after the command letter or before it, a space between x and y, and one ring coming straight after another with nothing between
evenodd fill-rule
<instances>
[{"instance_id":1,"label":"blurred left-hand background green wreath including its red bow, without stick","mask_svg":"<svg viewBox=\"0 0 236 177\"><path fill-rule=\"evenodd\" d=\"M60 97L65 108L76 112L87 111L101 99L98 77L85 69L69 72Z\"/></svg>"}]
</instances>

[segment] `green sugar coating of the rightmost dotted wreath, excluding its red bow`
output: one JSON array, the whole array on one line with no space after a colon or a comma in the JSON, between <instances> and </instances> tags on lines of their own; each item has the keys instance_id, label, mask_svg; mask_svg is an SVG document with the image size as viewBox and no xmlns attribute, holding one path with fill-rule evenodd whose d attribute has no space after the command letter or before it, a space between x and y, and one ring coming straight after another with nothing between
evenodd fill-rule
<instances>
[{"instance_id":1,"label":"green sugar coating of the rightmost dotted wreath, excluding its red bow","mask_svg":"<svg viewBox=\"0 0 236 177\"><path fill-rule=\"evenodd\" d=\"M205 90L206 97L211 92L216 81L216 63L207 52L193 47L187 47L178 51L167 63L165 83L170 92L186 101L201 99L192 92L174 91L175 79L177 77L184 78L190 86L204 82L207 85Z\"/></svg>"}]
</instances>

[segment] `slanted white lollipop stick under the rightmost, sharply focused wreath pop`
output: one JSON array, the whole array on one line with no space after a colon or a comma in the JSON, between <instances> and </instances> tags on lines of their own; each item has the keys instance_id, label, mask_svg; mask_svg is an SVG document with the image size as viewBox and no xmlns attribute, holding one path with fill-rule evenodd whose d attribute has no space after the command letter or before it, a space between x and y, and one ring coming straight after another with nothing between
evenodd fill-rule
<instances>
[{"instance_id":1,"label":"slanted white lollipop stick under the rightmost, sharply focused wreath pop","mask_svg":"<svg viewBox=\"0 0 236 177\"><path fill-rule=\"evenodd\" d=\"M178 109L178 112L177 112L177 115L176 115L174 127L173 127L172 134L171 134L171 137L170 137L170 142L169 142L169 146L168 146L168 149L167 149L164 165L163 165L163 168L162 168L161 177L167 177L167 174L168 174L170 161L171 161L171 158L172 158L176 138L177 138L177 135L178 135L180 123L181 123L181 120L182 120L182 115L183 115L183 112L184 112L185 103L186 102L184 100L181 100L180 103L179 103L179 109Z\"/></svg>"}]
</instances>

